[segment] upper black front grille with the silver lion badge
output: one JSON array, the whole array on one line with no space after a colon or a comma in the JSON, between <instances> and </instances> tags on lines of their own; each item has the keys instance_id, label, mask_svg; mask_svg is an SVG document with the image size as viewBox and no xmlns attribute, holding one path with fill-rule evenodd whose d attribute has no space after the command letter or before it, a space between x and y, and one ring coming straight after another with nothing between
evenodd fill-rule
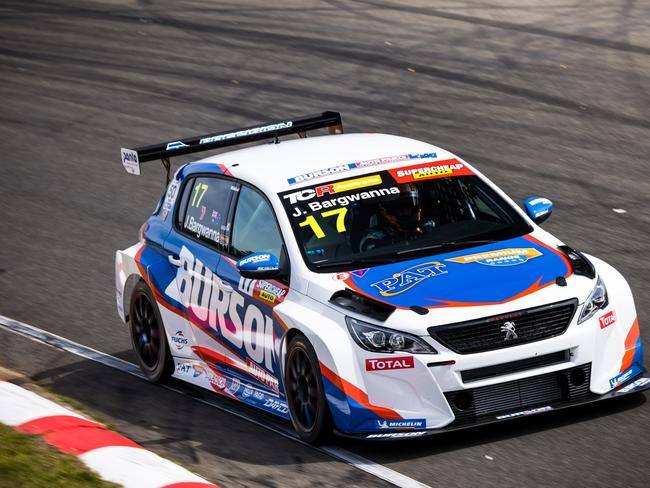
<instances>
[{"instance_id":1,"label":"upper black front grille with the silver lion badge","mask_svg":"<svg viewBox=\"0 0 650 488\"><path fill-rule=\"evenodd\" d=\"M437 325L428 331L436 341L459 354L491 351L563 334L577 305L578 300L574 298L467 322ZM509 333L507 328L514 330Z\"/></svg>"}]
</instances>

